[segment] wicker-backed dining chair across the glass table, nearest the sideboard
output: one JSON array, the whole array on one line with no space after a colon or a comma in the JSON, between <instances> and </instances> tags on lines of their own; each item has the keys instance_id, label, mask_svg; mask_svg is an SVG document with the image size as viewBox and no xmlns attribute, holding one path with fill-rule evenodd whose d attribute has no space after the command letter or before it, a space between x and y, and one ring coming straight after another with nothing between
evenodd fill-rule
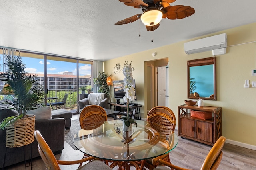
<instances>
[{"instance_id":1,"label":"wicker-backed dining chair across the glass table, nearest the sideboard","mask_svg":"<svg viewBox=\"0 0 256 170\"><path fill-rule=\"evenodd\" d=\"M166 147L171 147L173 140L173 133L176 125L176 118L171 109L165 106L156 106L148 112L147 124L156 129L160 134L160 142ZM160 125L160 126L159 126ZM146 160L144 166L152 170L158 166L158 160L166 160L170 162L169 154L164 154L153 159Z\"/></svg>"}]
</instances>

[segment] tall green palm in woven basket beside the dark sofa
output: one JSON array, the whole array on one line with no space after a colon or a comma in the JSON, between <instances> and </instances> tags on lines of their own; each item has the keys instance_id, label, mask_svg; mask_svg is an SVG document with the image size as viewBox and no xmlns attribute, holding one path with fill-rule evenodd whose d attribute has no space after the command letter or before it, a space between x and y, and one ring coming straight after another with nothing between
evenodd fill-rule
<instances>
[{"instance_id":1,"label":"tall green palm in woven basket beside the dark sofa","mask_svg":"<svg viewBox=\"0 0 256 170\"><path fill-rule=\"evenodd\" d=\"M38 80L36 74L28 74L25 71L26 65L22 62L20 55L10 56L4 54L4 57L6 61L6 63L4 63L4 66L6 66L7 71L0 73L0 81L6 84L4 86L4 90L14 94L15 98L14 102L6 100L4 101L4 103L14 106L16 111L18 111L18 116L7 117L0 123L0 128L2 130L6 128L7 146L9 140L8 134L12 136L20 132L25 133L27 130L26 127L33 128L35 123L35 115L26 115L26 113L28 112L28 110L36 109L38 103L42 101L44 96L44 89L42 85L36 82ZM25 123L25 126L23 126L22 122ZM29 126L27 125L28 123ZM32 130L30 129L30 131ZM26 138L31 139L31 141L33 142L34 131L32 131L31 134L26 134L30 135L30 137ZM10 139L10 141L12 140L14 139ZM14 141L17 143L18 139L15 139ZM12 144L13 143L11 142L10 145ZM18 145L22 146L21 143L19 143Z\"/></svg>"}]
</instances>

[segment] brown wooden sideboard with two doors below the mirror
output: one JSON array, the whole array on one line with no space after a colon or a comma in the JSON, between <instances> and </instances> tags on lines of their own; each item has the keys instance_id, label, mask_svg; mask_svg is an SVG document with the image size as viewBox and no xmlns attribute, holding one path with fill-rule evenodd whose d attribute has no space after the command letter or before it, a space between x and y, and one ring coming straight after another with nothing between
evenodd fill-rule
<instances>
[{"instance_id":1,"label":"brown wooden sideboard with two doors below the mirror","mask_svg":"<svg viewBox=\"0 0 256 170\"><path fill-rule=\"evenodd\" d=\"M203 120L190 116L190 110L212 112L212 119ZM221 134L221 107L186 104L178 106L178 135L207 145L214 145Z\"/></svg>"}]
</instances>

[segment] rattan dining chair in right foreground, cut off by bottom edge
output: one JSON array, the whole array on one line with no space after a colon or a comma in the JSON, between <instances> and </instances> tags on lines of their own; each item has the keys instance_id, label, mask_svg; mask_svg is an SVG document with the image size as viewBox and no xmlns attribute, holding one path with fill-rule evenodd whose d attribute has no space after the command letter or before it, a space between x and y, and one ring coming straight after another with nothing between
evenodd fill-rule
<instances>
[{"instance_id":1,"label":"rattan dining chair in right foreground, cut off by bottom edge","mask_svg":"<svg viewBox=\"0 0 256 170\"><path fill-rule=\"evenodd\" d=\"M219 139L216 141L216 143L213 145L212 149L206 156L200 170L216 170L218 168L222 160L222 148L225 144L225 141L226 138L224 136L219 137ZM161 166L157 166L156 168L154 168L154 170L170 170L170 168L174 170L190 170L187 168L181 168L179 166L173 165L161 159L159 159L159 164L161 164ZM170 168L167 168L165 166L168 166Z\"/></svg>"}]
</instances>

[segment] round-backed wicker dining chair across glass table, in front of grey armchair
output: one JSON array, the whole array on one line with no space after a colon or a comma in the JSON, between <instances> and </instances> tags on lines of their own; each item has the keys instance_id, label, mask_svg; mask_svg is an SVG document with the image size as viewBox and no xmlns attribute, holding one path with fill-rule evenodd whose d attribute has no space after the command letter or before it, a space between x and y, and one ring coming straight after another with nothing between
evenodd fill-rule
<instances>
[{"instance_id":1,"label":"round-backed wicker dining chair across glass table, in front of grey armchair","mask_svg":"<svg viewBox=\"0 0 256 170\"><path fill-rule=\"evenodd\" d=\"M99 105L89 105L82 109L79 122L81 129L92 130L100 127L105 121L108 120L108 115L103 107ZM84 154L83 158L88 157L87 154ZM82 166L82 163L79 167Z\"/></svg>"}]
</instances>

